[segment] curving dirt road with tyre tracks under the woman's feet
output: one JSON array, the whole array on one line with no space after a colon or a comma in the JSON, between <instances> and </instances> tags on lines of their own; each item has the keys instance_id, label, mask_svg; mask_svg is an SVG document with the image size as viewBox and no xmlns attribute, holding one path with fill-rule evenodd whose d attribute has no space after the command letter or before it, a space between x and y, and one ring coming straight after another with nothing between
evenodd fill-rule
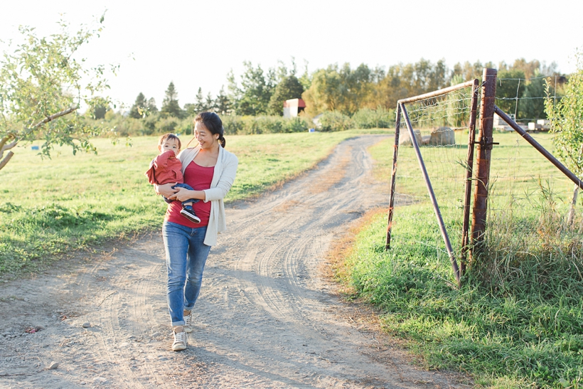
<instances>
[{"instance_id":1,"label":"curving dirt road with tyre tracks under the woman's feet","mask_svg":"<svg viewBox=\"0 0 583 389\"><path fill-rule=\"evenodd\" d=\"M319 271L331 240L386 202L366 152L380 139L228 206L186 351L170 351L159 234L3 284L0 388L467 388L412 366Z\"/></svg>"}]
</instances>

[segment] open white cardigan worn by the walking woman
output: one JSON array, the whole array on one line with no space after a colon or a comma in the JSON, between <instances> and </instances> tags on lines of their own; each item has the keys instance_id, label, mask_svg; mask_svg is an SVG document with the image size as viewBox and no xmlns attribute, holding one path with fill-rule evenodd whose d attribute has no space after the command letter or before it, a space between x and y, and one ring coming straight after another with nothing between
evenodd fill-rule
<instances>
[{"instance_id":1,"label":"open white cardigan worn by the walking woman","mask_svg":"<svg viewBox=\"0 0 583 389\"><path fill-rule=\"evenodd\" d=\"M200 147L197 146L183 150L178 154L178 159L182 162L183 174L186 166L193 161L199 150ZM207 203L210 201L210 217L206 229L205 245L214 246L217 243L218 233L227 230L223 198L225 198L233 181L235 181L235 174L237 174L238 165L239 160L235 154L232 154L219 146L219 156L213 173L213 181L210 183L210 189L205 189L204 191L204 202Z\"/></svg>"}]
</instances>

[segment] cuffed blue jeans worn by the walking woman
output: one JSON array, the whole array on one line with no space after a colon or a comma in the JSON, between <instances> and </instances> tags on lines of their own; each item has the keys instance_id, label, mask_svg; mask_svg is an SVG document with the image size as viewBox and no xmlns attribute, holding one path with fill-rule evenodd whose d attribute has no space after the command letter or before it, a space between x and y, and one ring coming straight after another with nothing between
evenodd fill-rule
<instances>
[{"instance_id":1,"label":"cuffed blue jeans worn by the walking woman","mask_svg":"<svg viewBox=\"0 0 583 389\"><path fill-rule=\"evenodd\" d=\"M184 324L183 310L192 310L203 282L210 246L204 244L206 227L190 228L164 222L162 236L168 270L168 310L172 326Z\"/></svg>"}]
</instances>

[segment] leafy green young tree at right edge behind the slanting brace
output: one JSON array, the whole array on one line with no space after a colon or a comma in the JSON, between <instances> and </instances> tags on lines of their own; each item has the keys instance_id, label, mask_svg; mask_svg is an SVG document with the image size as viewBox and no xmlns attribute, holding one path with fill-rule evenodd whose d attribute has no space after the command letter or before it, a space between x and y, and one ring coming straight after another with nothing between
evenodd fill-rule
<instances>
[{"instance_id":1,"label":"leafy green young tree at right edge behind the slanting brace","mask_svg":"<svg viewBox=\"0 0 583 389\"><path fill-rule=\"evenodd\" d=\"M571 75L564 95L557 101L551 96L550 82L547 80L545 112L554 134L553 143L565 166L577 177L583 178L583 53L577 53L577 72ZM569 224L573 220L578 189L576 185L567 220Z\"/></svg>"}]
</instances>

